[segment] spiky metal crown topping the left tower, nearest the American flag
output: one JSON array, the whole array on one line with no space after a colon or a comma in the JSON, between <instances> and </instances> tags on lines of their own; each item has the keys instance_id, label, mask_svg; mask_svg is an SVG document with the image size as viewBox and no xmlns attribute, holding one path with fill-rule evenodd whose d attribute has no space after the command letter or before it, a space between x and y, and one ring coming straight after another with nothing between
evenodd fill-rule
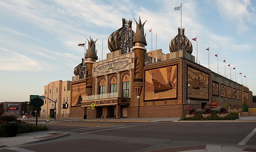
<instances>
[{"instance_id":1,"label":"spiky metal crown topping the left tower, nearest the American flag","mask_svg":"<svg viewBox=\"0 0 256 152\"><path fill-rule=\"evenodd\" d=\"M92 40L91 36L90 36L90 40L87 39L87 41L88 41L88 49L86 49L85 59L87 61L96 61L96 60L98 60L97 50L95 50L95 43L96 43L96 41Z\"/></svg>"}]
</instances>

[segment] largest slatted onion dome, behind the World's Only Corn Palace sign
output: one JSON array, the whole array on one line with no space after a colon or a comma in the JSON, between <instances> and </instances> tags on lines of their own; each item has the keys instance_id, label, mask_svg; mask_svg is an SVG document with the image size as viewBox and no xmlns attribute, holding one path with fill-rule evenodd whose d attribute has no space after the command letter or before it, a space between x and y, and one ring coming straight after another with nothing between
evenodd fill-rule
<instances>
[{"instance_id":1,"label":"largest slatted onion dome, behind the World's Only Corn Palace sign","mask_svg":"<svg viewBox=\"0 0 256 152\"><path fill-rule=\"evenodd\" d=\"M133 36L135 35L135 32L131 29L132 21L126 21L125 18L122 18L122 22L122 27L108 37L108 49L111 52L120 49L128 52L131 50L131 42L133 40Z\"/></svg>"}]
</instances>

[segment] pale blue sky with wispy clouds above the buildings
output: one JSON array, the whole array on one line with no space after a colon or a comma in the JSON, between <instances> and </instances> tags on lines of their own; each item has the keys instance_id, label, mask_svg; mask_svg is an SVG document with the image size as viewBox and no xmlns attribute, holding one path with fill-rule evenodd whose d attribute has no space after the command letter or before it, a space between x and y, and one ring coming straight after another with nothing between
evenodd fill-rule
<instances>
[{"instance_id":1,"label":"pale blue sky with wispy clouds above the buildings","mask_svg":"<svg viewBox=\"0 0 256 152\"><path fill-rule=\"evenodd\" d=\"M218 68L239 84L245 81L256 93L256 1L250 0L1 0L0 1L0 102L28 101L29 95L44 94L49 82L71 81L73 69L81 63L84 48L77 46L89 36L96 42L98 56L109 53L108 36L122 26L122 18L145 23L144 30L151 47L157 33L157 49L169 52L170 41L178 34L182 3L182 27L193 45L192 55L200 64L217 73ZM87 45L86 45L87 46ZM233 70L234 68L236 70ZM235 74L236 72L236 74ZM239 73L242 72L242 75ZM245 79L243 76L246 75Z\"/></svg>"}]
</instances>

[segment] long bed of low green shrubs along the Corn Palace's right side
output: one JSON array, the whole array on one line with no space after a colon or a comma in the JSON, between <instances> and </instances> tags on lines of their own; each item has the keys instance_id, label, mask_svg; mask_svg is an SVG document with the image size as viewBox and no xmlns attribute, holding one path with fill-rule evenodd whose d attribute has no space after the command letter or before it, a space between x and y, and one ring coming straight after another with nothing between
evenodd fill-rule
<instances>
[{"instance_id":1,"label":"long bed of low green shrubs along the Corn Palace's right side","mask_svg":"<svg viewBox=\"0 0 256 152\"><path fill-rule=\"evenodd\" d=\"M214 111L212 116L209 117L203 117L202 115L195 115L194 117L181 117L181 121L195 121L195 120L201 120L201 121L209 121L209 120L236 120L238 119L238 112L230 112L227 117L221 118L217 116L217 111Z\"/></svg>"}]
</instances>

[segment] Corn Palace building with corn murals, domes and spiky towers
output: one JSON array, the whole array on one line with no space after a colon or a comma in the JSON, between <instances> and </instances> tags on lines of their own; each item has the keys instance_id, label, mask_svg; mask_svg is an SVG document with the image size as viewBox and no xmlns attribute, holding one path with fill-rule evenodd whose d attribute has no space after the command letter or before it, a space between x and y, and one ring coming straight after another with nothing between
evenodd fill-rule
<instances>
[{"instance_id":1,"label":"Corn Palace building with corn murals, domes and spiky towers","mask_svg":"<svg viewBox=\"0 0 256 152\"><path fill-rule=\"evenodd\" d=\"M71 118L181 117L188 97L195 108L216 102L241 109L243 102L249 103L248 87L195 62L184 28L178 28L170 53L164 54L161 49L147 52L145 23L136 21L136 32L131 23L123 19L109 36L105 60L96 62L97 40L88 40L85 59L70 83Z\"/></svg>"}]
</instances>

